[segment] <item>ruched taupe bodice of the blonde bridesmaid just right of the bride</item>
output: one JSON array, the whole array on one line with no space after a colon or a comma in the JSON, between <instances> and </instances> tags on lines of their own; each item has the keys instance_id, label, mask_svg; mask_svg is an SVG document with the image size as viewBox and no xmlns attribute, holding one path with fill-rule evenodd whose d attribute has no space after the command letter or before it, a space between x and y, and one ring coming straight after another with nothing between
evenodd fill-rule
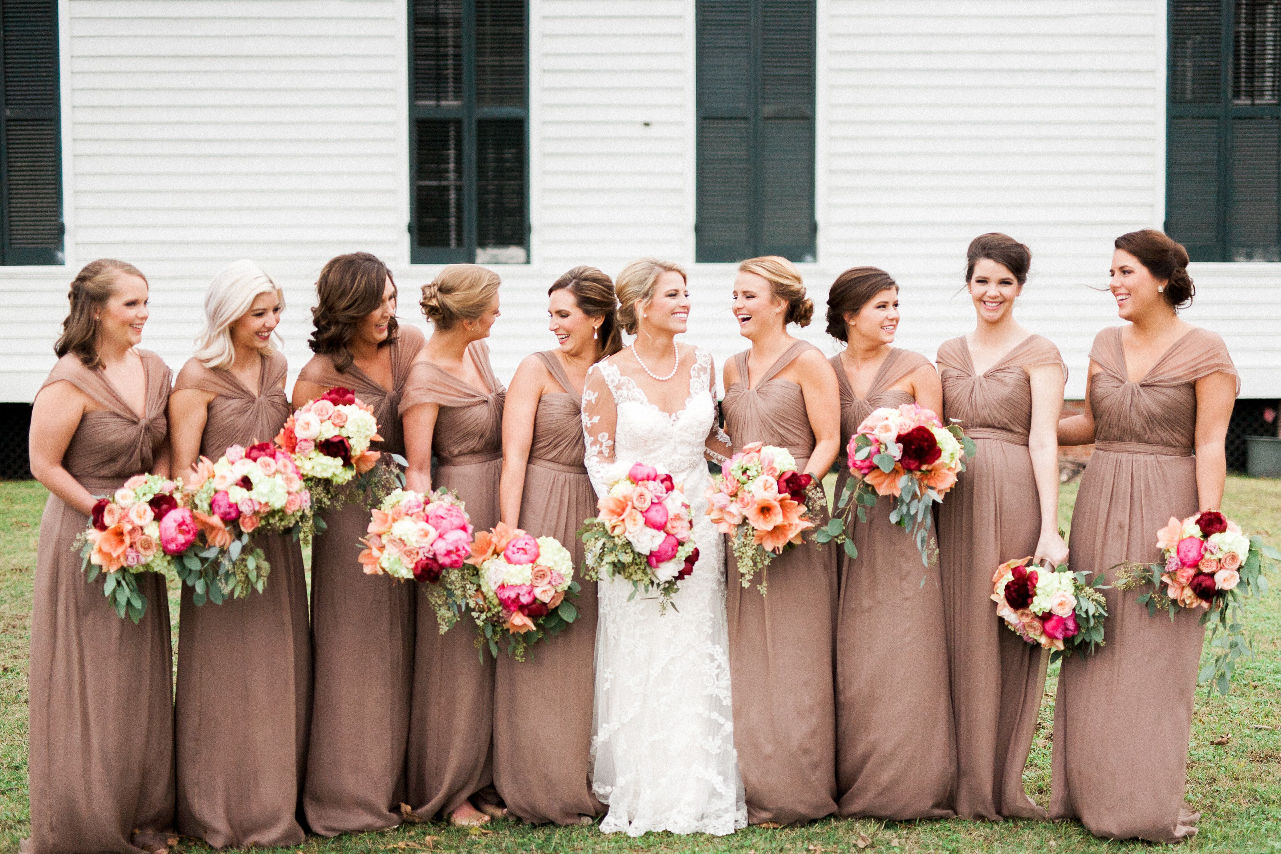
<instances>
[{"instance_id":1,"label":"ruched taupe bodice of the blonde bridesmaid just right of the bride","mask_svg":"<svg viewBox=\"0 0 1281 854\"><path fill-rule=\"evenodd\" d=\"M819 348L804 341L793 343L755 387L747 367L749 351L734 356L738 382L725 389L721 410L725 431L734 440L735 451L751 442L785 447L796 457L797 466L804 467L815 444L804 394L792 380L778 379L778 374L807 350Z\"/></svg>"}]
</instances>

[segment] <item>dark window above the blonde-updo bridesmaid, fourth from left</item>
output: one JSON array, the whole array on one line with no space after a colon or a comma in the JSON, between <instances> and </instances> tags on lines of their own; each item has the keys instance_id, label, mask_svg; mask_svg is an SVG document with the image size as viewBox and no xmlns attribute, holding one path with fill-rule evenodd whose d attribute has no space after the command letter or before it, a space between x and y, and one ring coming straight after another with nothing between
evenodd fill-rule
<instances>
[{"instance_id":1,"label":"dark window above the blonde-updo bridesmaid, fourth from left","mask_svg":"<svg viewBox=\"0 0 1281 854\"><path fill-rule=\"evenodd\" d=\"M414 264L529 261L524 0L410 0Z\"/></svg>"}]
</instances>

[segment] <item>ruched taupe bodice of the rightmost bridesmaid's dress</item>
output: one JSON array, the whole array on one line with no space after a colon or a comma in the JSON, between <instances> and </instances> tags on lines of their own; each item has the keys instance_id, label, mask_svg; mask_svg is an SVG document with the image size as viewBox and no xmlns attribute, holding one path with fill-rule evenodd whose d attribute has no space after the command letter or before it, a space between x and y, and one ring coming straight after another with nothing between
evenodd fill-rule
<instances>
[{"instance_id":1,"label":"ruched taupe bodice of the rightmost bridesmaid's dress","mask_svg":"<svg viewBox=\"0 0 1281 854\"><path fill-rule=\"evenodd\" d=\"M1236 374L1223 339L1200 328L1175 342L1136 383L1129 379L1121 326L1094 338L1090 360L1099 366L1090 378L1095 442L1132 442L1172 453L1191 451L1196 380L1216 371Z\"/></svg>"}]
</instances>

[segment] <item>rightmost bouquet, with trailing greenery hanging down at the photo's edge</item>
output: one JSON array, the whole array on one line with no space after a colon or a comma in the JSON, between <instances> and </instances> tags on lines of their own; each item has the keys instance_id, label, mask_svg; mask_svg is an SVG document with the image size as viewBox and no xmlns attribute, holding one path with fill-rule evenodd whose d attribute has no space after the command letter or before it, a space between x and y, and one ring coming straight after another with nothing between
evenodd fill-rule
<instances>
[{"instance_id":1,"label":"rightmost bouquet, with trailing greenery hanging down at the photo's edge","mask_svg":"<svg viewBox=\"0 0 1281 854\"><path fill-rule=\"evenodd\" d=\"M1111 567L1118 570L1116 586L1146 588L1138 602L1148 606L1149 615L1166 611L1173 620L1180 608L1204 609L1200 622L1209 625L1214 659L1196 681L1226 695L1236 659L1253 654L1241 629L1245 597L1267 592L1263 557L1281 561L1281 552L1264 545L1258 535L1246 536L1236 522L1213 510L1182 521L1171 517L1157 531L1157 548L1161 563L1125 561Z\"/></svg>"}]
</instances>

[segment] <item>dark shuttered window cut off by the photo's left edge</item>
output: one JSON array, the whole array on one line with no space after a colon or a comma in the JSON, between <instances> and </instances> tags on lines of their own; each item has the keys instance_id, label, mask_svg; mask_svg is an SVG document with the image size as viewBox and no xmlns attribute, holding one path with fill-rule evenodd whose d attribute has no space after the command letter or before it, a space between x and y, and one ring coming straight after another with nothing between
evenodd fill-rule
<instances>
[{"instance_id":1,"label":"dark shuttered window cut off by the photo's left edge","mask_svg":"<svg viewBox=\"0 0 1281 854\"><path fill-rule=\"evenodd\" d=\"M0 0L0 261L63 264L56 0Z\"/></svg>"}]
</instances>

